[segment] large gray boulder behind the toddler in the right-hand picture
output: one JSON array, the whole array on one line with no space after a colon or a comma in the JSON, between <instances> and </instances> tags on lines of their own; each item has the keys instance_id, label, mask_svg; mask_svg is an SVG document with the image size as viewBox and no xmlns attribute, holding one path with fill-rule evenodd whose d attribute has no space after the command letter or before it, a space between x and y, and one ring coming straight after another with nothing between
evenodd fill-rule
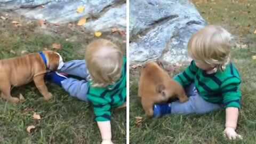
<instances>
[{"instance_id":1,"label":"large gray boulder behind the toddler in the right-hand picture","mask_svg":"<svg viewBox=\"0 0 256 144\"><path fill-rule=\"evenodd\" d=\"M130 0L130 63L159 59L188 63L187 43L206 26L196 7L187 0Z\"/></svg>"}]
</instances>

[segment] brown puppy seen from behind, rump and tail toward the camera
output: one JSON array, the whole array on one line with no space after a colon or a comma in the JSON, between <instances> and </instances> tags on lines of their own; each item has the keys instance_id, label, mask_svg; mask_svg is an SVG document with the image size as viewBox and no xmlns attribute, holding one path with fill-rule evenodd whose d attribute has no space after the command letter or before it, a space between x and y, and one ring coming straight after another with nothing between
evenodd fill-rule
<instances>
[{"instance_id":1,"label":"brown puppy seen from behind, rump and tail toward the camera","mask_svg":"<svg viewBox=\"0 0 256 144\"><path fill-rule=\"evenodd\" d=\"M170 78L161 65L161 62L148 62L142 65L138 96L148 117L153 116L155 103L167 102L175 96L180 102L188 100L183 87Z\"/></svg>"}]
</instances>

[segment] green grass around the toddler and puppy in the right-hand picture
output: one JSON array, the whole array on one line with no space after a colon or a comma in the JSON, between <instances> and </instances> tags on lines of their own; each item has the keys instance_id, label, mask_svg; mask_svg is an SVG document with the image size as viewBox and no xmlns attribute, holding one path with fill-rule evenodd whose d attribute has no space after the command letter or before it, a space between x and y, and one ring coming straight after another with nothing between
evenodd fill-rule
<instances>
[{"instance_id":1,"label":"green grass around the toddler and puppy in the right-hand picture","mask_svg":"<svg viewBox=\"0 0 256 144\"><path fill-rule=\"evenodd\" d=\"M243 2L250 5L254 4L254 6L246 7L241 1L238 3L232 1L193 1L202 17L209 24L222 25L235 36L237 43L249 45L250 50L256 51L256 34L253 34L256 28L253 26L256 20L255 1ZM234 17L236 17L235 20ZM252 60L252 55L256 54L250 52L249 49L235 48L231 54L242 78L242 109L240 110L237 132L244 136L243 140L229 141L223 137L225 110L213 111L205 115L168 115L162 118L146 118L137 95L139 69L131 69L130 143L255 143L256 61ZM181 70L175 73L179 72ZM144 118L141 125L138 126L135 124L135 117L137 116Z\"/></svg>"}]
</instances>

